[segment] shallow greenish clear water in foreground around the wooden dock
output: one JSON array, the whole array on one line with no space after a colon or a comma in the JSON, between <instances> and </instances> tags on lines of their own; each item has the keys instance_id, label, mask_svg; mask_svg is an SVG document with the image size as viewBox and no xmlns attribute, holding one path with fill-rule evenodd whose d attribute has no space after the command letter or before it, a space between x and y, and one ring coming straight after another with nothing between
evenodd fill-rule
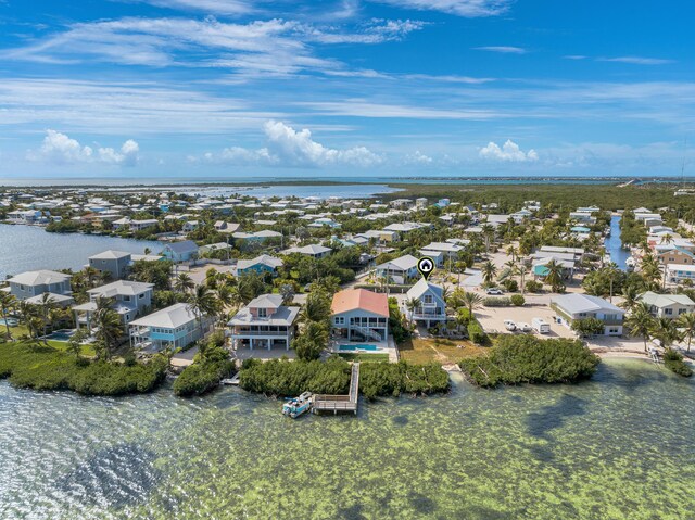
<instances>
[{"instance_id":1,"label":"shallow greenish clear water in foreground around the wooden dock","mask_svg":"<svg viewBox=\"0 0 695 520\"><path fill-rule=\"evenodd\" d=\"M695 518L695 382L644 362L576 386L456 382L357 417L281 406L0 382L0 518Z\"/></svg>"}]
</instances>

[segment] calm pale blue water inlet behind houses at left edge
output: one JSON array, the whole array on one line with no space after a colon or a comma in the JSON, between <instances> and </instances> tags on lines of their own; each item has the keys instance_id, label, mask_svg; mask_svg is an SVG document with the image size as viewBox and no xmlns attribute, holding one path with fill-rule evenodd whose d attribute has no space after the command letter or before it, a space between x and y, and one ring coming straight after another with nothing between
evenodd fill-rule
<instances>
[{"instance_id":1,"label":"calm pale blue water inlet behind houses at left edge","mask_svg":"<svg viewBox=\"0 0 695 520\"><path fill-rule=\"evenodd\" d=\"M106 250L142 254L163 249L162 242L97 234L47 233L35 226L0 224L0 279L35 269L81 269L89 256Z\"/></svg>"}]
</instances>

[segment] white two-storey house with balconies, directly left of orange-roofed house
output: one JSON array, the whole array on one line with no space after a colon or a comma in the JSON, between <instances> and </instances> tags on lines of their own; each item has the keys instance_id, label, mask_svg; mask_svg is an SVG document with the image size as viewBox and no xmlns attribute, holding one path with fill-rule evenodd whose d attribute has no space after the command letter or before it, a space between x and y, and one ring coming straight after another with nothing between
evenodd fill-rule
<instances>
[{"instance_id":1,"label":"white two-storey house with balconies, directly left of orange-roofed house","mask_svg":"<svg viewBox=\"0 0 695 520\"><path fill-rule=\"evenodd\" d=\"M229 320L229 337L235 348L248 345L290 348L294 339L296 316L300 307L282 305L280 294L263 294L251 302Z\"/></svg>"}]
</instances>

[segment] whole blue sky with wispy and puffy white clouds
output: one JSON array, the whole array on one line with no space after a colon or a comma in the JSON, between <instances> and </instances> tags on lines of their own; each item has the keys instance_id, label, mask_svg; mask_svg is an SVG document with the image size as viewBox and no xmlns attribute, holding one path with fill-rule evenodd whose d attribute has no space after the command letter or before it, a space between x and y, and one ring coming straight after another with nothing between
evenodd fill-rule
<instances>
[{"instance_id":1,"label":"whole blue sky with wispy and puffy white clouds","mask_svg":"<svg viewBox=\"0 0 695 520\"><path fill-rule=\"evenodd\" d=\"M63 3L0 0L0 177L695 175L692 1Z\"/></svg>"}]
</instances>

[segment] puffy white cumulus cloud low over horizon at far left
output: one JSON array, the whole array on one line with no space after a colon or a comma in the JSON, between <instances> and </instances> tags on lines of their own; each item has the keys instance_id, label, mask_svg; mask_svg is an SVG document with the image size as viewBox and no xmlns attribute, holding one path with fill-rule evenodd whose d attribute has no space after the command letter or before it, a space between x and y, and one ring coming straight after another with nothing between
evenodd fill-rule
<instances>
[{"instance_id":1,"label":"puffy white cumulus cloud low over horizon at far left","mask_svg":"<svg viewBox=\"0 0 695 520\"><path fill-rule=\"evenodd\" d=\"M140 147L132 139L123 143L119 151L113 148L99 148L97 153L91 147L83 147L76 139L60 131L48 129L38 151L29 151L30 161L45 161L58 165L77 163L103 163L122 166L135 166L138 163Z\"/></svg>"}]
</instances>

